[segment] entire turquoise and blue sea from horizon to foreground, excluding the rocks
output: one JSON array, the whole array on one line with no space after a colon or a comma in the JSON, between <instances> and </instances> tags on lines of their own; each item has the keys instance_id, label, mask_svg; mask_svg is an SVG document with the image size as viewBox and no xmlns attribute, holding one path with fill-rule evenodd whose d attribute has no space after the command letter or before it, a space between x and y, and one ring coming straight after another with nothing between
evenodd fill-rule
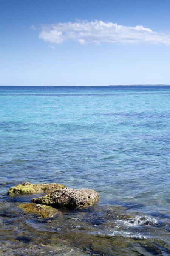
<instances>
[{"instance_id":1,"label":"entire turquoise and blue sea from horizon to foreground, excluding the rocks","mask_svg":"<svg viewBox=\"0 0 170 256\"><path fill-rule=\"evenodd\" d=\"M1 86L0 252L169 255L169 166L170 86ZM23 181L100 201L39 220L17 208L29 197L6 195Z\"/></svg>"}]
</instances>

